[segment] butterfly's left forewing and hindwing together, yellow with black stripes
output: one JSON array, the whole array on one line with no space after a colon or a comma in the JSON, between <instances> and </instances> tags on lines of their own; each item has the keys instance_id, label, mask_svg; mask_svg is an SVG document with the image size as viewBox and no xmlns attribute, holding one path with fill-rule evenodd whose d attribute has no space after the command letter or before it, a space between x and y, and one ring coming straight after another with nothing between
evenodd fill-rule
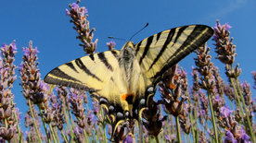
<instances>
[{"instance_id":1,"label":"butterfly's left forewing and hindwing together, yellow with black stripes","mask_svg":"<svg viewBox=\"0 0 256 143\"><path fill-rule=\"evenodd\" d=\"M83 56L56 67L44 80L49 84L85 89L101 104L111 106L111 113L124 113L128 111L128 104L121 100L121 95L127 93L127 88L122 81L119 54L119 51L108 51Z\"/></svg>"}]
</instances>

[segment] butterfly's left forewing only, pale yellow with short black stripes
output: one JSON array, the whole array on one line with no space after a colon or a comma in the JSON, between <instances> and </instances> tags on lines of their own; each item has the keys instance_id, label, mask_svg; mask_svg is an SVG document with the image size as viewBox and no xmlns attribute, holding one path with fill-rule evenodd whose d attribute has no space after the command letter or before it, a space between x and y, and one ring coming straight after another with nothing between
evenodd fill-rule
<instances>
[{"instance_id":1,"label":"butterfly's left forewing only, pale yellow with short black stripes","mask_svg":"<svg viewBox=\"0 0 256 143\"><path fill-rule=\"evenodd\" d=\"M58 66L47 74L45 82L75 89L104 89L118 68L119 51L83 56Z\"/></svg>"}]
</instances>

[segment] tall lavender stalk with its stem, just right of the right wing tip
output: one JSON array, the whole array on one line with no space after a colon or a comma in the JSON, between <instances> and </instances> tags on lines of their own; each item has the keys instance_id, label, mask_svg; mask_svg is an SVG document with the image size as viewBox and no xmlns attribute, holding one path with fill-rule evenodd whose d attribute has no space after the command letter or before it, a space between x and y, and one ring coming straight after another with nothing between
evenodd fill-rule
<instances>
[{"instance_id":1,"label":"tall lavender stalk with its stem, just right of the right wing tip","mask_svg":"<svg viewBox=\"0 0 256 143\"><path fill-rule=\"evenodd\" d=\"M240 112L243 113L245 111L246 113L246 119L247 123L245 125L247 128L250 130L250 137L253 142L255 142L255 137L252 131L251 123L250 123L250 116L247 110L246 103L244 101L243 94L241 92L241 89L239 87L239 82L238 82L238 76L241 73L241 69L238 68L238 65L233 67L233 64L235 63L235 57L237 56L236 54L236 45L233 44L233 38L230 39L229 34L230 31L229 29L231 28L230 25L224 24L221 25L219 21L217 21L216 26L214 27L214 37L213 41L216 42L215 45L215 52L218 54L218 59L225 64L225 69L226 69L226 76L229 77L230 82L232 83L232 86L235 90L235 93L237 95L237 101L240 107ZM234 80L236 81L237 87L234 83ZM238 92L238 93L237 93ZM240 96L240 97L239 97ZM241 105L240 100L243 103L243 107ZM242 115L243 118L244 115ZM245 122L245 121L244 121Z\"/></svg>"}]
</instances>

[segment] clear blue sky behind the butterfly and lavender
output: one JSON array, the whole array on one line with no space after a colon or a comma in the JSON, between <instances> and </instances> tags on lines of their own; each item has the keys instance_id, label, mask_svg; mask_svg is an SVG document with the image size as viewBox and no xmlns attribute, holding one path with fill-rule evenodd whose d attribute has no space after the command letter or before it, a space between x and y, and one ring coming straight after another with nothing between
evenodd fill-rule
<instances>
[{"instance_id":1,"label":"clear blue sky behind the butterfly and lavender","mask_svg":"<svg viewBox=\"0 0 256 143\"><path fill-rule=\"evenodd\" d=\"M21 47L28 46L31 40L40 51L38 56L42 78L54 67L84 55L83 48L78 46L79 40L75 39L77 33L72 30L70 18L65 13L65 8L73 2L76 1L1 0L0 43L9 44L16 40L17 66L21 62ZM240 80L247 80L253 86L250 72L256 70L255 0L82 0L80 6L88 9L90 27L96 28L96 52L108 50L108 36L129 40L147 22L147 29L134 37L135 43L161 30L178 26L206 24L213 27L216 19L220 19L221 24L228 22L232 26L231 36L237 45L236 62L242 68ZM120 50L123 44L122 41L117 42L116 49ZM212 57L216 57L212 42L208 42L208 45L211 47ZM190 54L180 63L188 73L191 72L191 66L194 66L195 56L196 54ZM226 79L224 65L218 60L212 60L215 66L220 67L221 75ZM24 115L27 106L20 92L19 82L20 79L17 79L13 93L15 102ZM191 83L191 78L189 82Z\"/></svg>"}]
</instances>

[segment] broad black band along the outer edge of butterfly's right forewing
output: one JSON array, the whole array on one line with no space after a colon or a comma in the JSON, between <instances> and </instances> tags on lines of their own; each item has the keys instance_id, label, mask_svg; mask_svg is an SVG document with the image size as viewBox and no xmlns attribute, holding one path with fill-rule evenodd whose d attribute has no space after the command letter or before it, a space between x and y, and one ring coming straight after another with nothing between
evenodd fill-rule
<instances>
[{"instance_id":1,"label":"broad black band along the outer edge of butterfly's right forewing","mask_svg":"<svg viewBox=\"0 0 256 143\"><path fill-rule=\"evenodd\" d=\"M202 33L203 30L207 30L207 31L203 35L201 35L198 38L198 40L195 40L199 36L199 34ZM155 82L158 82L160 80L160 76L165 71L167 71L170 67L177 64L179 61L185 58L187 54L192 53L203 43L207 42L211 38L212 34L213 34L213 30L210 27L197 25L195 29L190 33L190 35L186 38L186 41L181 45L181 47L179 47L179 49L177 49L177 51L167 60L168 64L163 66L163 68L154 77L151 77L151 78L156 79ZM193 42L193 44L191 44L189 47L186 48L186 46L191 42ZM181 53L181 51L184 51L184 52ZM173 60L170 61L171 59Z\"/></svg>"}]
</instances>

